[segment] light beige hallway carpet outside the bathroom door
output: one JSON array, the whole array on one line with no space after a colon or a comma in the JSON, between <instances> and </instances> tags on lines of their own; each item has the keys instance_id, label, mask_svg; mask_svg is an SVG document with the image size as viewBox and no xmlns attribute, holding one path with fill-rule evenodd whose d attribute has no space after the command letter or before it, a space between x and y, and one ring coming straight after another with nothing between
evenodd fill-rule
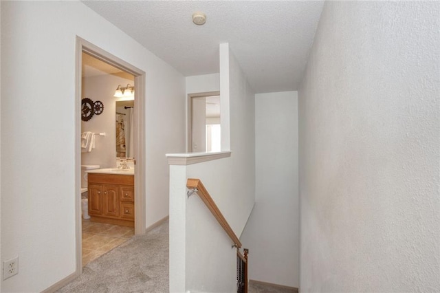
<instances>
[{"instance_id":1,"label":"light beige hallway carpet outside the bathroom door","mask_svg":"<svg viewBox=\"0 0 440 293\"><path fill-rule=\"evenodd\" d=\"M91 261L56 292L168 292L168 221Z\"/></svg>"}]
</instances>

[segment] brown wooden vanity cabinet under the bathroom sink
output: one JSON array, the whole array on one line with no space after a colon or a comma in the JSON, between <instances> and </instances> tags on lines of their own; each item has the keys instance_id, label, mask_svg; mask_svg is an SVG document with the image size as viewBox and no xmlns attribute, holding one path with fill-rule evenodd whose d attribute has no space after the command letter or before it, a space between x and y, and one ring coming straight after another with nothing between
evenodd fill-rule
<instances>
[{"instance_id":1,"label":"brown wooden vanity cabinet under the bathroom sink","mask_svg":"<svg viewBox=\"0 0 440 293\"><path fill-rule=\"evenodd\" d=\"M134 227L134 175L89 173L91 221Z\"/></svg>"}]
</instances>

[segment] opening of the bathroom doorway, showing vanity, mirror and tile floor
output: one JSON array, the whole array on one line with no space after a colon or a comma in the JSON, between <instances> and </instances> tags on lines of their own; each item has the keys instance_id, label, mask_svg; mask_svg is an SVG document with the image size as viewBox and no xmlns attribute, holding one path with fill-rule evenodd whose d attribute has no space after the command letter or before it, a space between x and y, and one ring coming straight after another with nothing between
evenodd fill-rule
<instances>
[{"instance_id":1,"label":"opening of the bathroom doorway, showing vanity, mirror and tile floor","mask_svg":"<svg viewBox=\"0 0 440 293\"><path fill-rule=\"evenodd\" d=\"M107 180L113 177L134 180L135 84L132 74L86 52L82 58L81 255L85 266L134 235L133 217L129 217L133 198L123 202L119 198L122 191L134 195L133 185L118 185L116 180L109 185ZM89 109L89 105L94 109ZM122 162L127 167L118 169ZM104 170L108 173L94 173ZM96 174L100 174L106 184L96 182L101 179ZM94 181L87 180L89 177L95 178ZM91 190L88 185L92 186ZM91 215L89 204L93 208Z\"/></svg>"}]
</instances>

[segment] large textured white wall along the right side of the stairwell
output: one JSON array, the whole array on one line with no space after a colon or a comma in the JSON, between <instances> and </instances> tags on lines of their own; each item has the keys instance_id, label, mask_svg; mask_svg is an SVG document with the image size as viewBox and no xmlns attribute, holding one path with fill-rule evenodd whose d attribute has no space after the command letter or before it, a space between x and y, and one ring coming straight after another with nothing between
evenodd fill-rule
<instances>
[{"instance_id":1,"label":"large textured white wall along the right side of the stairwell","mask_svg":"<svg viewBox=\"0 0 440 293\"><path fill-rule=\"evenodd\" d=\"M439 15L325 3L298 91L302 292L440 291Z\"/></svg>"}]
</instances>

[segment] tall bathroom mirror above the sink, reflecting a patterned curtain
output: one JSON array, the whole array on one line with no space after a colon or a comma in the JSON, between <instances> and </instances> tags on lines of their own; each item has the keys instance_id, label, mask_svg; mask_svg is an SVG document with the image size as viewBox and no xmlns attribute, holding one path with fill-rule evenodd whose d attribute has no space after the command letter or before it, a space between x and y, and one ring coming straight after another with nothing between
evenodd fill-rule
<instances>
[{"instance_id":1,"label":"tall bathroom mirror above the sink, reflecting a patterned curtain","mask_svg":"<svg viewBox=\"0 0 440 293\"><path fill-rule=\"evenodd\" d=\"M134 100L116 102L116 158L134 158Z\"/></svg>"}]
</instances>

